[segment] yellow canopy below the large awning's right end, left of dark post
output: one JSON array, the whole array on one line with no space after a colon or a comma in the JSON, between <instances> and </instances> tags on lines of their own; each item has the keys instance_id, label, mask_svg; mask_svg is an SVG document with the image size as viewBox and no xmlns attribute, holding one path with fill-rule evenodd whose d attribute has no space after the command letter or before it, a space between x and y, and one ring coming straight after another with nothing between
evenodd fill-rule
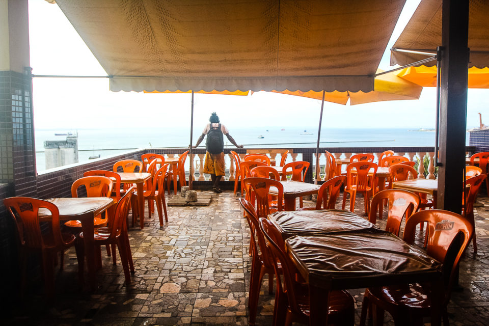
<instances>
[{"instance_id":1,"label":"yellow canopy below the large awning's right end, left of dark post","mask_svg":"<svg viewBox=\"0 0 489 326\"><path fill-rule=\"evenodd\" d=\"M378 69L377 73L379 72L383 72L383 70ZM419 99L421 91L421 86L418 86L409 82L408 80L404 80L396 76L396 73L390 72L375 77L374 90L371 92L326 92L324 94L324 100L345 105L349 99L350 105L355 105L379 101ZM322 92L302 92L288 90L272 92L322 100Z\"/></svg>"}]
</instances>

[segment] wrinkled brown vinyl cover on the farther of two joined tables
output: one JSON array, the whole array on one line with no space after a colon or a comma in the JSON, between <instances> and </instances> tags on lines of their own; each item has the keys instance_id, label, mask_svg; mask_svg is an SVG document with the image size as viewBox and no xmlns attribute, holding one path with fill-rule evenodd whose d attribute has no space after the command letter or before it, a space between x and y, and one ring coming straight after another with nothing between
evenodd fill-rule
<instances>
[{"instance_id":1,"label":"wrinkled brown vinyl cover on the farther of two joined tables","mask_svg":"<svg viewBox=\"0 0 489 326\"><path fill-rule=\"evenodd\" d=\"M284 238L374 229L376 226L347 210L281 211L268 215Z\"/></svg>"}]
</instances>

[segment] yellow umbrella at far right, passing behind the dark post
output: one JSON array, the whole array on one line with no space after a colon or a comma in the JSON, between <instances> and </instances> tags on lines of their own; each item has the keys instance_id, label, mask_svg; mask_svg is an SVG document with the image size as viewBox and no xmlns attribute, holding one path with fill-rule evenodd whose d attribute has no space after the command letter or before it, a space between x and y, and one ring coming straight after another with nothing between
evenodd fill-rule
<instances>
[{"instance_id":1,"label":"yellow umbrella at far right, passing behind the dark post","mask_svg":"<svg viewBox=\"0 0 489 326\"><path fill-rule=\"evenodd\" d=\"M423 87L437 87L437 66L408 67L397 75ZM489 88L489 68L469 68L469 88Z\"/></svg>"}]
</instances>

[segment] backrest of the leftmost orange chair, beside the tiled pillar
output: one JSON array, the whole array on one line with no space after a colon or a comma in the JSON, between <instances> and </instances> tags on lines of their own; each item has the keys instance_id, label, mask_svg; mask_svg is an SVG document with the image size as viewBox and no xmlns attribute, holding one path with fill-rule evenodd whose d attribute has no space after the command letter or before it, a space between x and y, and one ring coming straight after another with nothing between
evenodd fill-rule
<instances>
[{"instance_id":1,"label":"backrest of the leftmost orange chair, beside the tiled pillar","mask_svg":"<svg viewBox=\"0 0 489 326\"><path fill-rule=\"evenodd\" d=\"M4 199L4 205L17 226L21 246L44 249L56 248L64 243L61 236L60 211L55 204L30 197L10 197ZM41 233L39 224L39 209L41 208L47 209L51 214L50 235L53 243L50 244L44 243Z\"/></svg>"}]
</instances>

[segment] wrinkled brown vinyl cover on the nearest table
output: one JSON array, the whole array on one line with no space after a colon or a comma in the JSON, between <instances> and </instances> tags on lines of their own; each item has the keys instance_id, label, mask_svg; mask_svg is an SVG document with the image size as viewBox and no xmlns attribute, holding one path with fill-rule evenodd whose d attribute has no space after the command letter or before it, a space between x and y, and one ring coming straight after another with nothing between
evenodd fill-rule
<instances>
[{"instance_id":1,"label":"wrinkled brown vinyl cover on the nearest table","mask_svg":"<svg viewBox=\"0 0 489 326\"><path fill-rule=\"evenodd\" d=\"M286 240L301 274L314 279L439 271L441 263L381 230L325 236L293 236ZM302 269L302 270L301 270Z\"/></svg>"}]
</instances>

